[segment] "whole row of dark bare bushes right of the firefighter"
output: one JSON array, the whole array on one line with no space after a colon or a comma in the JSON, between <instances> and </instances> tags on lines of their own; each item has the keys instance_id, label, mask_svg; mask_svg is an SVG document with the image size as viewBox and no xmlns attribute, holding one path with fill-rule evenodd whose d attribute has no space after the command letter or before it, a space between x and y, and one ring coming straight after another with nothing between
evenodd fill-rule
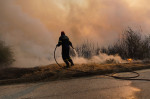
<instances>
[{"instance_id":1,"label":"whole row of dark bare bushes right of the firefighter","mask_svg":"<svg viewBox=\"0 0 150 99\"><path fill-rule=\"evenodd\" d=\"M142 29L134 30L129 27L122 32L119 39L107 47L101 47L87 40L78 45L76 51L79 57L86 59L100 54L119 55L124 60L150 59L150 35L142 35Z\"/></svg>"}]
</instances>

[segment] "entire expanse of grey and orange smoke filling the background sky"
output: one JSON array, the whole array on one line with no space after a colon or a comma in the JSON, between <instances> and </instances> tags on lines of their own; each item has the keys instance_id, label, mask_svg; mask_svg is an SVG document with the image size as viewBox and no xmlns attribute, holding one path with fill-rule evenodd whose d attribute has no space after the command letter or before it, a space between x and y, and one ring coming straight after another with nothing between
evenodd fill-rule
<instances>
[{"instance_id":1,"label":"entire expanse of grey and orange smoke filling the background sky","mask_svg":"<svg viewBox=\"0 0 150 99\"><path fill-rule=\"evenodd\" d=\"M148 0L0 0L0 39L12 46L14 66L49 64L60 31L74 45L104 46L128 26L149 30Z\"/></svg>"}]
</instances>

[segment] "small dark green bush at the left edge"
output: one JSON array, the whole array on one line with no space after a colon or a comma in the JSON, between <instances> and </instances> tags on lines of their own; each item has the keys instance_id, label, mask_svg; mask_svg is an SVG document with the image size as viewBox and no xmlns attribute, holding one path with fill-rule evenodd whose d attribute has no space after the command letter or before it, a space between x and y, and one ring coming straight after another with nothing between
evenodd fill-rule
<instances>
[{"instance_id":1,"label":"small dark green bush at the left edge","mask_svg":"<svg viewBox=\"0 0 150 99\"><path fill-rule=\"evenodd\" d=\"M10 47L0 41L0 66L9 66L14 62L13 52Z\"/></svg>"}]
</instances>

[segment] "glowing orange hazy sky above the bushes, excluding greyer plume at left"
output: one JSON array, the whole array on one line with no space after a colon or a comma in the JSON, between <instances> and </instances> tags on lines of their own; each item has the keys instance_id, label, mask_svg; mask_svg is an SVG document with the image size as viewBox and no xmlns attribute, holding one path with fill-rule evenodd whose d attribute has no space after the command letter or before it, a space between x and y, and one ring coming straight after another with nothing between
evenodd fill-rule
<instances>
[{"instance_id":1,"label":"glowing orange hazy sky above the bushes, excluding greyer plume at left","mask_svg":"<svg viewBox=\"0 0 150 99\"><path fill-rule=\"evenodd\" d=\"M26 14L39 19L56 38L64 30L75 42L90 38L109 43L128 26L141 26L149 32L149 0L17 1Z\"/></svg>"}]
</instances>

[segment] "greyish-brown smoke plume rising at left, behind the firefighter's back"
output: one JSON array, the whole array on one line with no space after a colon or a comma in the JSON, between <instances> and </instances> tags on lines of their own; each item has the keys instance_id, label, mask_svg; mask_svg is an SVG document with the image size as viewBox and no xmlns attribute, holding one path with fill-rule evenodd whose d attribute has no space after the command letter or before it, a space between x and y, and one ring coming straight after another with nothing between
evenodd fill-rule
<instances>
[{"instance_id":1,"label":"greyish-brown smoke plume rising at left, behind the firefighter's back","mask_svg":"<svg viewBox=\"0 0 150 99\"><path fill-rule=\"evenodd\" d=\"M0 37L12 47L15 66L48 63L53 34L39 19L24 13L14 0L0 1Z\"/></svg>"}]
</instances>

